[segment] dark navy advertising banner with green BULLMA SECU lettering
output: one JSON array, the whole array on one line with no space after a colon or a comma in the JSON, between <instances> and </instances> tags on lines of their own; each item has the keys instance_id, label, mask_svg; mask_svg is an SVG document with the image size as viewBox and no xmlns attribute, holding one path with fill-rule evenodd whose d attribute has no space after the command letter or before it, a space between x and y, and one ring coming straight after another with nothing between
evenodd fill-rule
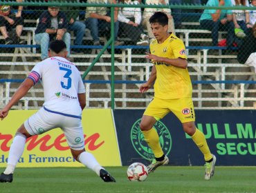
<instances>
[{"instance_id":1,"label":"dark navy advertising banner with green BULLMA SECU lettering","mask_svg":"<svg viewBox=\"0 0 256 193\"><path fill-rule=\"evenodd\" d=\"M122 165L149 164L154 154L140 132L144 110L115 110ZM205 134L217 165L256 165L256 110L195 110L196 127ZM203 154L170 113L156 122L161 147L170 165L203 165Z\"/></svg>"}]
</instances>

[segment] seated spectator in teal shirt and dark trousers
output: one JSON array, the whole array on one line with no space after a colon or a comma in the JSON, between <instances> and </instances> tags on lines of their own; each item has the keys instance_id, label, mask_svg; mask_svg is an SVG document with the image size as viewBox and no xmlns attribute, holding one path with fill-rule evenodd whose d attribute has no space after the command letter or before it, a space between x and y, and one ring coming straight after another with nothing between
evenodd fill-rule
<instances>
[{"instance_id":1,"label":"seated spectator in teal shirt and dark trousers","mask_svg":"<svg viewBox=\"0 0 256 193\"><path fill-rule=\"evenodd\" d=\"M230 0L208 0L206 6L231 6ZM235 38L232 10L204 10L200 19L200 26L212 32L212 45L218 45L219 30L228 31L227 45L232 47Z\"/></svg>"}]
</instances>

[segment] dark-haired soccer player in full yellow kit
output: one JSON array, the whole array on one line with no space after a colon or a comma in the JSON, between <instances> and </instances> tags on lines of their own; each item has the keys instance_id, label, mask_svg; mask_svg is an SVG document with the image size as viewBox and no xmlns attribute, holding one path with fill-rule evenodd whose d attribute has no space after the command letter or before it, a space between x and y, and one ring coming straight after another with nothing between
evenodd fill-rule
<instances>
[{"instance_id":1,"label":"dark-haired soccer player in full yellow kit","mask_svg":"<svg viewBox=\"0 0 256 193\"><path fill-rule=\"evenodd\" d=\"M205 180L210 180L214 174L216 157L210 153L203 132L194 124L195 114L192 102L192 83L188 73L188 61L185 45L181 39L167 32L168 17L163 12L155 12L149 19L154 41L150 44L150 54L146 58L154 63L150 77L140 85L140 92L146 92L154 83L154 99L147 106L140 130L145 141L154 152L155 159L147 166L149 172L156 167L166 165L169 159L163 153L159 136L153 125L173 112L183 125L183 130L192 137L194 143L203 153L205 159Z\"/></svg>"}]
</instances>

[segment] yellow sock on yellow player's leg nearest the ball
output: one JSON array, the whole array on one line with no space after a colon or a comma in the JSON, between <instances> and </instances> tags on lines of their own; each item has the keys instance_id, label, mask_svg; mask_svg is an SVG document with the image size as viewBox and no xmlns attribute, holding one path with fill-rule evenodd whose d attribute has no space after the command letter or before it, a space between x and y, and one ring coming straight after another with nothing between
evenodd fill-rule
<instances>
[{"instance_id":1,"label":"yellow sock on yellow player's leg nearest the ball","mask_svg":"<svg viewBox=\"0 0 256 193\"><path fill-rule=\"evenodd\" d=\"M159 136L158 136L158 133L156 132L156 130L154 130L152 128L151 130L142 131L142 132L144 134L145 141L149 145L149 148L151 148L152 151L154 152L155 157L159 158L159 157L163 156L164 153L161 148L161 145L159 142Z\"/></svg>"}]
</instances>

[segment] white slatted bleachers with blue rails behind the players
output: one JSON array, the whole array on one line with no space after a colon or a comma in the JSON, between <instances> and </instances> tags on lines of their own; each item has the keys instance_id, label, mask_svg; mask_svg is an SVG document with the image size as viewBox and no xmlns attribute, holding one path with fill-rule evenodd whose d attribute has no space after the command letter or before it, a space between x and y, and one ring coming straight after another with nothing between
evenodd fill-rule
<instances>
[{"instance_id":1,"label":"white slatted bleachers with blue rails behind the players","mask_svg":"<svg viewBox=\"0 0 256 193\"><path fill-rule=\"evenodd\" d=\"M188 70L193 81L195 108L256 108L255 72L237 62L237 48L227 50L226 47L212 47L210 31L199 29L199 22L190 21L190 17L190 14L183 15L184 28L176 29L176 35L183 39L188 53ZM35 25L35 19L25 19L21 39L26 40L26 44L0 44L0 108L10 99L35 63L40 61L39 45L35 45L34 40ZM219 33L219 41L225 37L225 32ZM71 39L74 39L73 33ZM126 37L121 37L121 40L126 44L117 46L114 55L116 108L145 108L154 93L153 90L149 90L147 94L140 94L138 86L149 78L152 63L145 59L145 52L149 48L129 45L130 41ZM101 41L107 42L107 39L101 37ZM91 44L92 38L89 30L86 29L84 45L80 47L71 45L71 48L82 48L84 52L84 54L71 54L82 74L102 49L102 46ZM108 48L84 80L88 108L111 106L110 80L111 54ZM39 108L44 101L42 91L42 85L35 85L35 88L15 108Z\"/></svg>"}]
</instances>

